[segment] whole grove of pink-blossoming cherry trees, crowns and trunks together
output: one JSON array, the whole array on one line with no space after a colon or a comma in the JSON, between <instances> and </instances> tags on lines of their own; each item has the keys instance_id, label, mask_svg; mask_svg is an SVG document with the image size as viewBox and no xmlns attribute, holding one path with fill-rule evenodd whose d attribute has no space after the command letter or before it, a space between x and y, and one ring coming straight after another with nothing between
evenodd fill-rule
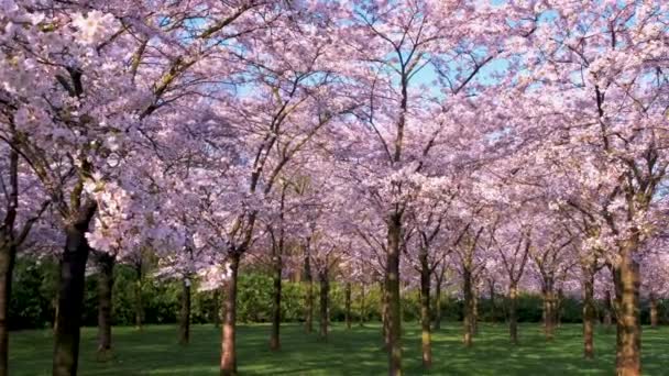
<instances>
[{"instance_id":1,"label":"whole grove of pink-blossoming cherry trees, crowns and trunks together","mask_svg":"<svg viewBox=\"0 0 669 376\"><path fill-rule=\"evenodd\" d=\"M184 313L193 280L224 289L221 375L237 374L240 264L260 259L273 349L282 276L304 268L325 314L344 270L383 288L391 375L401 286L420 288L429 367L447 283L465 345L483 286L507 296L513 343L520 289L541 291L548 339L557 291L582 295L589 357L603 295L617 373L640 374L640 294L666 294L669 265L668 7L4 1L0 375L18 254L59 259L53 373L74 375L87 265L108 351L113 267L141 275L145 250Z\"/></svg>"}]
</instances>

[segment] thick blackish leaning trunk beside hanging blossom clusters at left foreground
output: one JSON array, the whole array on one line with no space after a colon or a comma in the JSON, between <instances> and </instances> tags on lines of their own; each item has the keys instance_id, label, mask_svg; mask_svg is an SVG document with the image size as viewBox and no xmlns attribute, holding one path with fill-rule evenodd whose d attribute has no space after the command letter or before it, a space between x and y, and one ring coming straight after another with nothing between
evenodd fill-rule
<instances>
[{"instance_id":1,"label":"thick blackish leaning trunk beside hanging blossom clusters at left foreground","mask_svg":"<svg viewBox=\"0 0 669 376\"><path fill-rule=\"evenodd\" d=\"M74 223L65 229L66 241L58 284L58 316L54 333L54 376L77 374L86 262L90 252L86 232L95 211L96 206L87 203Z\"/></svg>"}]
</instances>

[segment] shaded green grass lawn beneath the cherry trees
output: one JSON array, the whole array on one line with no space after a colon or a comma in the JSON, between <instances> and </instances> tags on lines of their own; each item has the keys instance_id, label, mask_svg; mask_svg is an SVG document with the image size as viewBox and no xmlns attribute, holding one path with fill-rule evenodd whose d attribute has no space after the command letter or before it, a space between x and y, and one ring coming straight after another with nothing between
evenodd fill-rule
<instances>
[{"instance_id":1,"label":"shaded green grass lawn beneath the cherry trees","mask_svg":"<svg viewBox=\"0 0 669 376\"><path fill-rule=\"evenodd\" d=\"M330 341L305 334L298 324L282 328L282 350L268 350L268 325L241 325L238 365L242 375L384 375L386 354L381 350L377 324L332 328ZM582 357L580 325L563 325L547 343L538 324L520 327L520 344L512 346L503 324L482 324L472 349L460 342L459 323L446 324L434 335L434 362L429 373L420 365L419 328L404 328L406 375L613 375L615 332L600 328L595 334L596 358ZM51 331L12 332L11 375L51 374ZM113 358L96 361L96 329L83 330L80 375L217 375L220 332L211 325L194 325L189 346L176 343L173 325L113 329ZM645 375L669 375L669 328L644 328Z\"/></svg>"}]
</instances>

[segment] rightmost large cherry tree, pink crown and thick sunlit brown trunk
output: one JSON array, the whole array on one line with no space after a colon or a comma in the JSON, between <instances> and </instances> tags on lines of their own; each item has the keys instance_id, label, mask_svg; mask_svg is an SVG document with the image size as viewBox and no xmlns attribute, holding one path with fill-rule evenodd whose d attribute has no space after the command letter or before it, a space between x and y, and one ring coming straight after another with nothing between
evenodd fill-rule
<instances>
[{"instance_id":1,"label":"rightmost large cherry tree, pink crown and thick sunlit brown trunk","mask_svg":"<svg viewBox=\"0 0 669 376\"><path fill-rule=\"evenodd\" d=\"M536 8L533 63L523 78L528 113L556 159L575 163L563 202L596 223L592 241L612 264L618 327L617 373L640 373L638 257L657 231L666 175L666 4L546 3ZM518 98L518 97L516 97ZM537 130L537 128L534 128ZM594 195L583 200L579 189Z\"/></svg>"}]
</instances>

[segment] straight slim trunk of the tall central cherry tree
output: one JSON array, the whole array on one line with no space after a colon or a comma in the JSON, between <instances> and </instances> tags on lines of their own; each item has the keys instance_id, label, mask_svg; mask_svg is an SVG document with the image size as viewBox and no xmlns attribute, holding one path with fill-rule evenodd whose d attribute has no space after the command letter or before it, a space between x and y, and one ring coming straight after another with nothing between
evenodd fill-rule
<instances>
[{"instance_id":1,"label":"straight slim trunk of the tall central cherry tree","mask_svg":"<svg viewBox=\"0 0 669 376\"><path fill-rule=\"evenodd\" d=\"M388 375L402 375L402 317L399 301L399 251L402 214L388 218L388 247L386 259L386 294L388 299Z\"/></svg>"}]
</instances>

